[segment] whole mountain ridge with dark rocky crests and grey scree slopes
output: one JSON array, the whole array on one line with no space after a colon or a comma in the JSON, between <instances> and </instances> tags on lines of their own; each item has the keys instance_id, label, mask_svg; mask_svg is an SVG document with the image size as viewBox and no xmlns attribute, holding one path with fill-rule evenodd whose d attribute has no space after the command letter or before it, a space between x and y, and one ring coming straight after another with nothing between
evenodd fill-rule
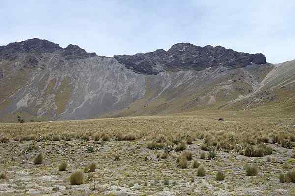
<instances>
[{"instance_id":1,"label":"whole mountain ridge with dark rocky crests and grey scree slopes","mask_svg":"<svg viewBox=\"0 0 295 196\"><path fill-rule=\"evenodd\" d=\"M88 53L37 38L0 46L0 121L86 119L198 109L293 112L295 61L266 62L221 46Z\"/></svg>"}]
</instances>

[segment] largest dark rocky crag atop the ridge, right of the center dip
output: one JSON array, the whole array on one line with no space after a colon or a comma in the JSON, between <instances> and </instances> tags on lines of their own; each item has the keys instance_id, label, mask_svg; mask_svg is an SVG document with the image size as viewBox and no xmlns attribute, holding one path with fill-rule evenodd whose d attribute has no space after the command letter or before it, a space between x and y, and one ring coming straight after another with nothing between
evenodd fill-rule
<instances>
[{"instance_id":1,"label":"largest dark rocky crag atop the ridge, right of the center dip","mask_svg":"<svg viewBox=\"0 0 295 196\"><path fill-rule=\"evenodd\" d=\"M202 70L216 66L235 68L252 63L258 65L266 63L266 57L263 54L247 54L222 46L201 47L190 43L174 44L168 51L156 50L133 56L118 55L114 58L125 64L127 68L144 74L158 74L163 70Z\"/></svg>"}]
</instances>

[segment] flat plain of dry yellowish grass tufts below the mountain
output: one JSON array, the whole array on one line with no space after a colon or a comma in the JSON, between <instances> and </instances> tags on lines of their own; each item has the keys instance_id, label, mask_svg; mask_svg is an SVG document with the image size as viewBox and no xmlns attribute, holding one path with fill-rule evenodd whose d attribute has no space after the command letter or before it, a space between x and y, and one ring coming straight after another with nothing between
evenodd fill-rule
<instances>
[{"instance_id":1,"label":"flat plain of dry yellowish grass tufts below the mountain","mask_svg":"<svg viewBox=\"0 0 295 196\"><path fill-rule=\"evenodd\" d=\"M5 196L295 195L292 116L199 111L2 123L0 141Z\"/></svg>"}]
</instances>

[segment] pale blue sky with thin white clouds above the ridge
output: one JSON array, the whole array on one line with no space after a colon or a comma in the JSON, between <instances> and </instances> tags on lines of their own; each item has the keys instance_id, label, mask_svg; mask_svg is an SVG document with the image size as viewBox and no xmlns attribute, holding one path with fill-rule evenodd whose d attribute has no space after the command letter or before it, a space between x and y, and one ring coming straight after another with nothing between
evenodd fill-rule
<instances>
[{"instance_id":1,"label":"pale blue sky with thin white clouds above the ridge","mask_svg":"<svg viewBox=\"0 0 295 196\"><path fill-rule=\"evenodd\" d=\"M295 0L0 0L0 45L31 38L97 55L224 46L295 59Z\"/></svg>"}]
</instances>

